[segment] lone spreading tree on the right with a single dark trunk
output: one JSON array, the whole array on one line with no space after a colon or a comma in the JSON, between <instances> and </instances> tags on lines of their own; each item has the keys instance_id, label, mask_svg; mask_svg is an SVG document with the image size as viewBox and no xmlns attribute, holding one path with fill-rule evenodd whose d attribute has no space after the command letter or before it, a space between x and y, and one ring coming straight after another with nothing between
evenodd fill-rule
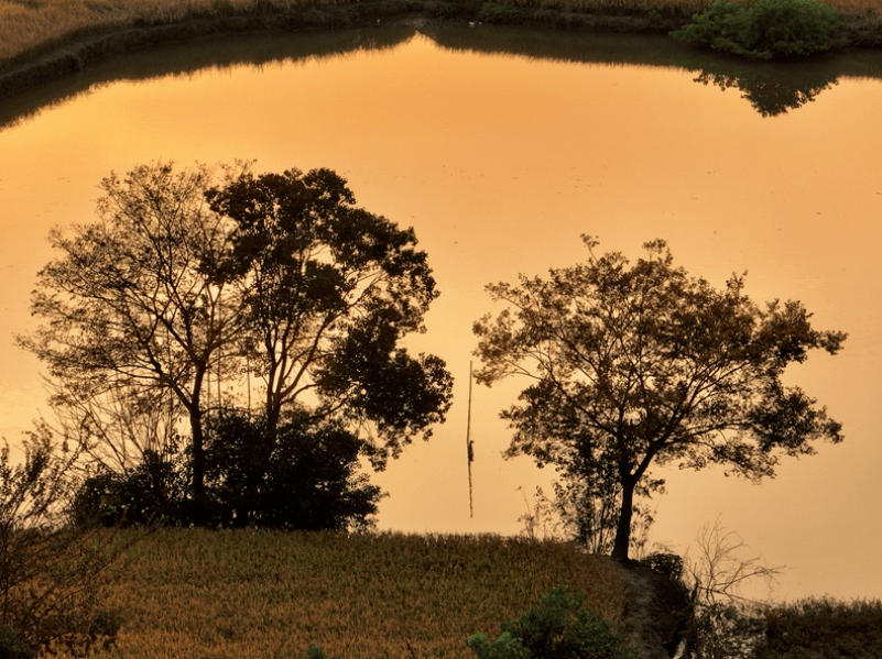
<instances>
[{"instance_id":1,"label":"lone spreading tree on the right with a single dark trunk","mask_svg":"<svg viewBox=\"0 0 882 659\"><path fill-rule=\"evenodd\" d=\"M634 494L663 484L651 465L721 464L759 480L781 455L841 441L826 408L782 376L810 350L835 354L847 334L814 329L798 301L754 304L744 275L722 290L689 276L663 240L633 265L582 240L586 263L487 287L507 308L473 326L477 380L532 381L501 415L514 431L507 457L620 488L614 558L628 558Z\"/></svg>"}]
</instances>

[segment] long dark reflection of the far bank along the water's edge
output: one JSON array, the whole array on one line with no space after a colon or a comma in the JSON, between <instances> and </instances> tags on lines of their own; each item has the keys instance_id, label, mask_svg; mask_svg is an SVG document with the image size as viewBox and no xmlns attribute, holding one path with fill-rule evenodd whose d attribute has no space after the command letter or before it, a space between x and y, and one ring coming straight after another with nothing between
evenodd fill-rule
<instances>
[{"instance_id":1,"label":"long dark reflection of the far bank along the water's edge","mask_svg":"<svg viewBox=\"0 0 882 659\"><path fill-rule=\"evenodd\" d=\"M875 52L830 55L792 64L751 63L684 46L663 35L580 33L547 28L434 25L423 20L360 30L246 35L175 44L109 59L28 94L0 100L0 129L42 109L66 102L118 80L188 76L209 68L261 67L331 56L384 51L424 34L455 52L503 54L608 66L656 66L696 73L695 81L737 89L763 117L801 108L842 77L882 79Z\"/></svg>"}]
</instances>

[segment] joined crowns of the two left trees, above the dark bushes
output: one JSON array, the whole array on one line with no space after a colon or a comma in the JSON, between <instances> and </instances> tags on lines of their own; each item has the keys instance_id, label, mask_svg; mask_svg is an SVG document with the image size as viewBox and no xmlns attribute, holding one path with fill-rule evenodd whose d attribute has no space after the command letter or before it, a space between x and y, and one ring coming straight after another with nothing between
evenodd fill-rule
<instances>
[{"instance_id":1,"label":"joined crowns of the two left trees, above the dark bushes","mask_svg":"<svg viewBox=\"0 0 882 659\"><path fill-rule=\"evenodd\" d=\"M251 166L152 163L105 178L97 221L50 234L61 256L33 293L42 323L18 338L83 442L153 451L132 429L156 409L168 436L186 419L197 517L205 415L250 413L257 384L270 437L286 413L342 424L377 469L450 406L444 362L401 345L438 295L413 229L357 207L328 169Z\"/></svg>"}]
</instances>

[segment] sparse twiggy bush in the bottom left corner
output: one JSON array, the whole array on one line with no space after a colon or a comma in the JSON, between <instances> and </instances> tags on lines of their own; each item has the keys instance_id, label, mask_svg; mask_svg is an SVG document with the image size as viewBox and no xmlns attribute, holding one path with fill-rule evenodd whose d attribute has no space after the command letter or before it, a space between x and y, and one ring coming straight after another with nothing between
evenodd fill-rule
<instances>
[{"instance_id":1,"label":"sparse twiggy bush in the bottom left corner","mask_svg":"<svg viewBox=\"0 0 882 659\"><path fill-rule=\"evenodd\" d=\"M0 657L77 653L116 638L119 618L97 595L122 548L107 532L66 524L77 458L58 452L45 428L30 437L21 464L8 444L0 450Z\"/></svg>"}]
</instances>

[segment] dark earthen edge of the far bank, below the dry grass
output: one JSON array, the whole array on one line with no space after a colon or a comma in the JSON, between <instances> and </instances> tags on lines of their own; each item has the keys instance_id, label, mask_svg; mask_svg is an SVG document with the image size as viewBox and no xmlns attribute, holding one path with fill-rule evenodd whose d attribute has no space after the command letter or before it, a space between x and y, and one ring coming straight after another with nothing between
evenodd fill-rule
<instances>
[{"instance_id":1,"label":"dark earthen edge of the far bank, below the dry grass","mask_svg":"<svg viewBox=\"0 0 882 659\"><path fill-rule=\"evenodd\" d=\"M591 13L560 9L526 8L514 4L466 0L370 0L339 4L303 4L280 9L259 2L246 11L218 15L190 15L153 24L110 24L81 29L65 37L45 42L0 64L0 99L43 83L76 74L101 59L164 44L202 37L262 32L296 33L329 29L370 29L378 24L468 24L496 23L571 31L667 34L687 23L688 15L657 11ZM847 25L849 47L882 47L882 25L858 29Z\"/></svg>"}]
</instances>

